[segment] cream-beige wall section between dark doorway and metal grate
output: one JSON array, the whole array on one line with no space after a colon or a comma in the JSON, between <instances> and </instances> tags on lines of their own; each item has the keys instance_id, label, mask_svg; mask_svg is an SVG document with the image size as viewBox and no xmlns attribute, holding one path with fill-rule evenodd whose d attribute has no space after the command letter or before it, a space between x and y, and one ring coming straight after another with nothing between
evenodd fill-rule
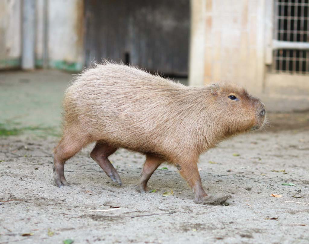
<instances>
[{"instance_id":1,"label":"cream-beige wall section between dark doorway and metal grate","mask_svg":"<svg viewBox=\"0 0 309 244\"><path fill-rule=\"evenodd\" d=\"M265 0L192 0L189 83L234 81L261 92Z\"/></svg>"}]
</instances>

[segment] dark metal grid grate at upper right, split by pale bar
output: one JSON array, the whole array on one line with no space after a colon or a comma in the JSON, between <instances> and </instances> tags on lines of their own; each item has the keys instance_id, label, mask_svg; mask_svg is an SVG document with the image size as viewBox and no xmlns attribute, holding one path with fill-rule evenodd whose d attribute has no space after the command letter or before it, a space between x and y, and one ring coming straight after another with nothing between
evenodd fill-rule
<instances>
[{"instance_id":1,"label":"dark metal grid grate at upper right, split by pale bar","mask_svg":"<svg viewBox=\"0 0 309 244\"><path fill-rule=\"evenodd\" d=\"M274 39L309 42L309 0L274 1ZM273 51L273 69L277 72L309 74L309 50L277 49Z\"/></svg>"}]
</instances>

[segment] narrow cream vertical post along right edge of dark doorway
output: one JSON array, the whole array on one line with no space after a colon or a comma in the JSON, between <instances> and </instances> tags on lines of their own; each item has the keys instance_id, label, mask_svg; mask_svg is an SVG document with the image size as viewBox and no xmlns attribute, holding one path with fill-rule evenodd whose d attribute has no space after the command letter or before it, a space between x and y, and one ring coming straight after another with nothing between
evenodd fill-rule
<instances>
[{"instance_id":1,"label":"narrow cream vertical post along right edge of dark doorway","mask_svg":"<svg viewBox=\"0 0 309 244\"><path fill-rule=\"evenodd\" d=\"M206 1L190 1L189 85L204 85Z\"/></svg>"}]
</instances>

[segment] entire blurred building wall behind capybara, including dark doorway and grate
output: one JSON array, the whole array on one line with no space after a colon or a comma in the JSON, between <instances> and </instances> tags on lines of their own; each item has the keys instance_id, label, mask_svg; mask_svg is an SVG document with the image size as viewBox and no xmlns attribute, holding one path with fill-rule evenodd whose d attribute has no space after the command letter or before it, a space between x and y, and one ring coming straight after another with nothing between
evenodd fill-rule
<instances>
[{"instance_id":1,"label":"entire blurred building wall behind capybara, including dark doorway and grate","mask_svg":"<svg viewBox=\"0 0 309 244\"><path fill-rule=\"evenodd\" d=\"M0 69L78 72L122 60L190 85L235 81L306 102L308 8L308 0L2 0Z\"/></svg>"}]
</instances>

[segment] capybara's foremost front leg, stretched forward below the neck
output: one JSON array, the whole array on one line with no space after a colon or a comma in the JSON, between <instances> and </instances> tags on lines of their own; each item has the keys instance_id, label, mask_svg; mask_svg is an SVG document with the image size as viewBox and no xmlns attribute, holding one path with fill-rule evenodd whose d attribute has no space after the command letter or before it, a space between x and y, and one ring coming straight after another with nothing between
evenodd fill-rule
<instances>
[{"instance_id":1,"label":"capybara's foremost front leg, stretched forward below the neck","mask_svg":"<svg viewBox=\"0 0 309 244\"><path fill-rule=\"evenodd\" d=\"M196 203L220 205L222 203L225 203L227 199L231 198L230 195L208 196L205 193L202 186L201 177L198 172L197 163L178 164L177 168L179 169L180 174L188 182L188 185L191 187Z\"/></svg>"}]
</instances>

